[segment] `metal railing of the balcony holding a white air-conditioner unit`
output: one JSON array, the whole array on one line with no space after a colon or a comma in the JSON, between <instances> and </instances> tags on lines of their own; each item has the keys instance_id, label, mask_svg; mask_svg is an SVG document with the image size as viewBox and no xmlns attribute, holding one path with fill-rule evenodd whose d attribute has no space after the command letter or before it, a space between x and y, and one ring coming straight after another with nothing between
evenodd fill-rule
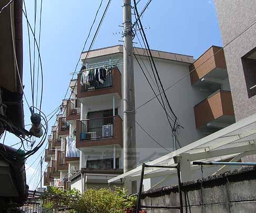
<instances>
[{"instance_id":1,"label":"metal railing of the balcony holding a white air-conditioner unit","mask_svg":"<svg viewBox=\"0 0 256 213\"><path fill-rule=\"evenodd\" d=\"M115 117L80 121L80 141L114 137Z\"/></svg>"}]
</instances>

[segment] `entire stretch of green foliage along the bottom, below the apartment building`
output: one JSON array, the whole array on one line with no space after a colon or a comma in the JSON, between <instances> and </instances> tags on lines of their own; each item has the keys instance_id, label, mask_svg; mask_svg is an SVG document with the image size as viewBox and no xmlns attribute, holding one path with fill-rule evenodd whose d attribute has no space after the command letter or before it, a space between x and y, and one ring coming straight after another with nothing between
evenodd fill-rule
<instances>
[{"instance_id":1,"label":"entire stretch of green foliage along the bottom, below the apartment building","mask_svg":"<svg viewBox=\"0 0 256 213\"><path fill-rule=\"evenodd\" d=\"M76 213L126 213L127 209L135 208L137 202L137 196L126 196L126 191L120 187L114 191L107 188L88 189L80 195L76 189L64 191L50 186L40 198L45 213L59 207L68 207L71 209L69 212Z\"/></svg>"}]
</instances>

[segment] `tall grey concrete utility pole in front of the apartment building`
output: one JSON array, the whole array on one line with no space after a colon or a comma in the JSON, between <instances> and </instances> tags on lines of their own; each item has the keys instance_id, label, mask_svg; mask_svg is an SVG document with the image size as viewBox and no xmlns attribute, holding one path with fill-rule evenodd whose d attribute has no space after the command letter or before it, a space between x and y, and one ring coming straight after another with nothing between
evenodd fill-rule
<instances>
[{"instance_id":1,"label":"tall grey concrete utility pole in front of the apartment building","mask_svg":"<svg viewBox=\"0 0 256 213\"><path fill-rule=\"evenodd\" d=\"M124 172L137 165L134 98L134 63L132 60L131 0L124 0Z\"/></svg>"}]
</instances>

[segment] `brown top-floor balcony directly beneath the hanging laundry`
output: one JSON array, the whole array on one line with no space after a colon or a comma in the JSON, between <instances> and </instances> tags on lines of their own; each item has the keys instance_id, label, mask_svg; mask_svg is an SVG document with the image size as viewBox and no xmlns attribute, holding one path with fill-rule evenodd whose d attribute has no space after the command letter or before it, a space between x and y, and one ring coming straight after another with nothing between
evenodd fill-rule
<instances>
[{"instance_id":1,"label":"brown top-floor balcony directly beneath the hanging laundry","mask_svg":"<svg viewBox=\"0 0 256 213\"><path fill-rule=\"evenodd\" d=\"M88 86L87 84L82 85L81 73L77 77L77 98L89 98L97 95L105 95L111 93L117 93L119 97L122 97L121 92L121 73L118 68L111 70L111 73L106 76L106 80L103 84L97 84L96 86Z\"/></svg>"}]
</instances>

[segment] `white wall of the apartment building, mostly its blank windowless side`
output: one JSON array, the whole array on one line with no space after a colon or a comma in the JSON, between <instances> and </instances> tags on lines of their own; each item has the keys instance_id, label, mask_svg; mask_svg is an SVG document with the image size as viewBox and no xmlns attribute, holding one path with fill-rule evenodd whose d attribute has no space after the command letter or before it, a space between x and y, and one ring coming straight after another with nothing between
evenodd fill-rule
<instances>
[{"instance_id":1,"label":"white wall of the apartment building, mostly its blank windowless side","mask_svg":"<svg viewBox=\"0 0 256 213\"><path fill-rule=\"evenodd\" d=\"M137 56L138 57L138 56ZM111 55L111 59L121 59L122 61L122 54L115 54ZM138 57L142 68L144 68L145 72L147 73L146 68L144 67L141 59ZM98 57L94 59L89 59L90 63L100 62L109 60L109 56L105 57ZM144 61L149 73L153 78L153 74L150 65L147 59L144 57L142 58ZM189 76L189 64L180 63L170 60L163 60L163 59L155 59L156 66L159 72L160 79L163 83L163 87L166 89L173 83L180 80L183 76L187 75L186 78L181 80L179 83L175 84L171 89L166 91L166 95L169 99L170 105L177 115L178 124L183 126L184 129L178 130L178 139L180 141L181 146L185 146L189 143L192 143L201 137L205 136L204 133L198 131L196 129L196 123L194 120L194 105L202 101L206 98L210 93L207 91L200 91L198 88L193 88L190 82ZM123 76L123 68L119 66L119 71ZM153 94L144 74L142 73L141 69L137 61L134 59L134 73L135 73L135 105L136 108L141 104L144 104L146 101L154 97ZM147 74L148 78L150 79L152 87L157 92L156 87L154 86L149 74ZM122 92L123 92L123 79L122 79ZM223 88L227 89L228 88ZM122 95L123 97L123 95ZM159 97L160 99L160 97ZM93 100L93 99L91 99ZM105 99L101 99L100 101L91 101L86 102L86 105L83 106L87 110L94 109L96 110L104 110L104 109L111 109L111 98L105 96ZM118 105L118 114L123 118L123 102L120 101ZM85 119L85 116L81 116L81 118ZM146 105L142 106L136 112L136 121L144 127L144 129L162 146L167 148L170 152L173 150L173 139L172 139L172 132L169 126L169 123L166 118L165 111L163 111L161 105L159 104L158 100L155 98ZM138 125L136 125L136 143L137 143L137 164L141 164L143 162L152 161L162 155L168 153L167 150L160 147L156 142L154 142L150 137L140 129ZM177 148L179 148L177 144ZM90 147L86 148L89 153L93 153L100 150L100 148ZM99 156L100 158L101 156ZM121 154L123 157L123 153ZM157 180L156 180L157 181ZM156 181L151 183L147 183L146 185L154 185ZM145 182L146 183L146 182Z\"/></svg>"}]
</instances>

